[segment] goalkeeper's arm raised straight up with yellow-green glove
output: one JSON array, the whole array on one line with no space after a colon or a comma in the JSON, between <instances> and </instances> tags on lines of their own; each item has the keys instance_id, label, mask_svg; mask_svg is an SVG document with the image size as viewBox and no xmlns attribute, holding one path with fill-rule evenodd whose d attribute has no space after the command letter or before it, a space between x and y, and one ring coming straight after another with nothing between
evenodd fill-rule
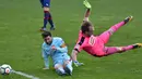
<instances>
[{"instance_id":1,"label":"goalkeeper's arm raised straight up with yellow-green glove","mask_svg":"<svg viewBox=\"0 0 142 79\"><path fill-rule=\"evenodd\" d=\"M83 23L84 23L84 22L88 22L90 21L88 17L90 17L90 14L91 14L91 8L92 6L91 6L91 4L90 4L90 2L87 0L83 1L83 4L86 8L86 12L85 12L84 18L83 18Z\"/></svg>"}]
</instances>

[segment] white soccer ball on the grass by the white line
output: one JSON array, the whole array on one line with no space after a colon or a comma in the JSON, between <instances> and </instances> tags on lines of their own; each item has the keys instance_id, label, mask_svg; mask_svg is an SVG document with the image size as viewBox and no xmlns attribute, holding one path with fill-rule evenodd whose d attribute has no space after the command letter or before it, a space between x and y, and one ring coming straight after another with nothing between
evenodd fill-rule
<instances>
[{"instance_id":1,"label":"white soccer ball on the grass by the white line","mask_svg":"<svg viewBox=\"0 0 142 79\"><path fill-rule=\"evenodd\" d=\"M12 68L10 65L3 64L2 66L0 66L0 74L1 75L9 75L11 74Z\"/></svg>"}]
</instances>

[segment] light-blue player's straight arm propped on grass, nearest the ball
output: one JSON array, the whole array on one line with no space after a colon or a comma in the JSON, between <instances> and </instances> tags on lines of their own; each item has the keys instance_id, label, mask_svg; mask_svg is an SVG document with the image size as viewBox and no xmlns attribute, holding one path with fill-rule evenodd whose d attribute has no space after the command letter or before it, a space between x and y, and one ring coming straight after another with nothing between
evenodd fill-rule
<instances>
[{"instance_id":1,"label":"light-blue player's straight arm propped on grass, nearest the ball","mask_svg":"<svg viewBox=\"0 0 142 79\"><path fill-rule=\"evenodd\" d=\"M44 63L45 63L45 68L43 68L43 69L49 69L49 58L48 58L49 54L44 49L42 49L42 54L43 54L43 58L44 58Z\"/></svg>"}]
</instances>

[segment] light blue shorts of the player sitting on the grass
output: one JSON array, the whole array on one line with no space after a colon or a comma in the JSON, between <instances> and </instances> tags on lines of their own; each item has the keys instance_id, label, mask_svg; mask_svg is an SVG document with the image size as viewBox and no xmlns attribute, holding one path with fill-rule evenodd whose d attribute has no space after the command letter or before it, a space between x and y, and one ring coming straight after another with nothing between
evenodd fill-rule
<instances>
[{"instance_id":1,"label":"light blue shorts of the player sitting on the grass","mask_svg":"<svg viewBox=\"0 0 142 79\"><path fill-rule=\"evenodd\" d=\"M62 57L57 57L55 61L54 61L54 66L56 64L60 64L60 65L63 65L66 61L69 61L70 60L70 56L68 54L64 54L62 55Z\"/></svg>"}]
</instances>

